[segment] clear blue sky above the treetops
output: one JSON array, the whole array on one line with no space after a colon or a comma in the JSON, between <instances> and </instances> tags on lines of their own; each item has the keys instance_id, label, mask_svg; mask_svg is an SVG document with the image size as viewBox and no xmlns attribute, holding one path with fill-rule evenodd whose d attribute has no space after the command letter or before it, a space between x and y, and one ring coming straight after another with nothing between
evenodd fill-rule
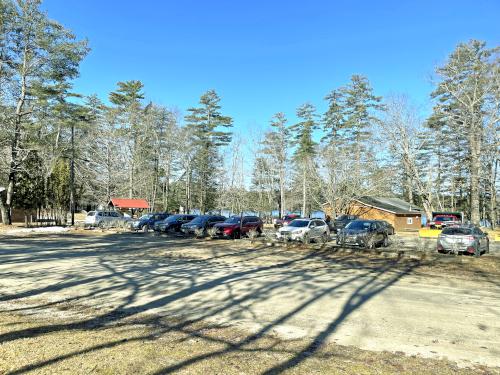
<instances>
[{"instance_id":1,"label":"clear blue sky above the treetops","mask_svg":"<svg viewBox=\"0 0 500 375\"><path fill-rule=\"evenodd\" d=\"M500 39L500 1L46 0L49 16L92 49L75 90L107 98L137 79L182 112L215 89L245 133L323 97L352 74L377 95L428 111L434 67L457 43ZM236 130L235 129L235 130Z\"/></svg>"}]
</instances>

